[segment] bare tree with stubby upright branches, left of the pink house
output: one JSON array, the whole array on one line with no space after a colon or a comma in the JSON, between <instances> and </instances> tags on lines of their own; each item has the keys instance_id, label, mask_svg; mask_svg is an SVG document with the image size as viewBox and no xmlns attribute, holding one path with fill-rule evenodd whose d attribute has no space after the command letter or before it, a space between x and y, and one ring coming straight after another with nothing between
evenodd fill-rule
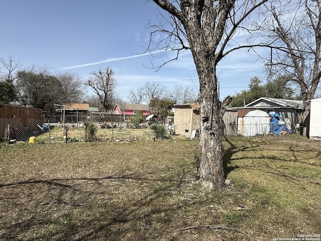
<instances>
[{"instance_id":1,"label":"bare tree with stubby upright branches, left of the pink house","mask_svg":"<svg viewBox=\"0 0 321 241\"><path fill-rule=\"evenodd\" d=\"M116 80L113 77L115 72L106 68L104 71L99 70L91 74L93 77L88 78L84 84L93 88L94 93L100 99L104 111L111 110L116 85Z\"/></svg>"}]
</instances>

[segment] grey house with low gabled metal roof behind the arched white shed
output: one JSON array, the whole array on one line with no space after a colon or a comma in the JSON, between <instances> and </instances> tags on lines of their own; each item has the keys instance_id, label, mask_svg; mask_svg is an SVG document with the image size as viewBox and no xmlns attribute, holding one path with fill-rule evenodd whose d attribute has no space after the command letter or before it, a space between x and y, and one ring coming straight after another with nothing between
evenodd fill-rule
<instances>
[{"instance_id":1,"label":"grey house with low gabled metal roof behind the arched white shed","mask_svg":"<svg viewBox=\"0 0 321 241\"><path fill-rule=\"evenodd\" d=\"M304 106L302 100L277 99L261 97L253 102L231 109L259 109L267 113L275 111L280 115L280 124L285 124L289 130L295 130L298 118L302 114Z\"/></svg>"}]
</instances>

